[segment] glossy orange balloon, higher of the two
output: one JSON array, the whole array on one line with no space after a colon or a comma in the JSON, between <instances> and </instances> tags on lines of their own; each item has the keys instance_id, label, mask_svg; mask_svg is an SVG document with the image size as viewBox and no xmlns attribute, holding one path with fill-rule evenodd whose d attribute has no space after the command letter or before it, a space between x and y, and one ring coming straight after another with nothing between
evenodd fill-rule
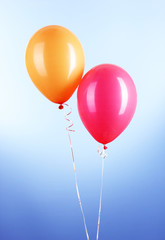
<instances>
[{"instance_id":1,"label":"glossy orange balloon, higher of the two","mask_svg":"<svg viewBox=\"0 0 165 240\"><path fill-rule=\"evenodd\" d=\"M50 101L62 104L77 88L84 71L84 52L78 38L61 26L36 32L25 56L31 80Z\"/></svg>"}]
</instances>

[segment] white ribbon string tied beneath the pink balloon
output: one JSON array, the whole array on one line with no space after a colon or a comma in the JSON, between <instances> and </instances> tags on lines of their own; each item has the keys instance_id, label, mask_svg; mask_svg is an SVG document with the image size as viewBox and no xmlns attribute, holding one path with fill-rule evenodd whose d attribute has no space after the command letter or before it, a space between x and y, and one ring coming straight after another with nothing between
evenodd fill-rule
<instances>
[{"instance_id":1,"label":"white ribbon string tied beneath the pink balloon","mask_svg":"<svg viewBox=\"0 0 165 240\"><path fill-rule=\"evenodd\" d=\"M98 214L98 222L97 222L97 235L96 240L99 239L99 230L100 230L100 216L101 216L101 205L102 205L102 192L103 192L103 175L104 175L104 159L108 156L105 153L106 147L103 146L103 149L100 150L98 147L98 153L102 158L102 172L101 172L101 188L100 188L100 203L99 203L99 214Z\"/></svg>"}]
</instances>

